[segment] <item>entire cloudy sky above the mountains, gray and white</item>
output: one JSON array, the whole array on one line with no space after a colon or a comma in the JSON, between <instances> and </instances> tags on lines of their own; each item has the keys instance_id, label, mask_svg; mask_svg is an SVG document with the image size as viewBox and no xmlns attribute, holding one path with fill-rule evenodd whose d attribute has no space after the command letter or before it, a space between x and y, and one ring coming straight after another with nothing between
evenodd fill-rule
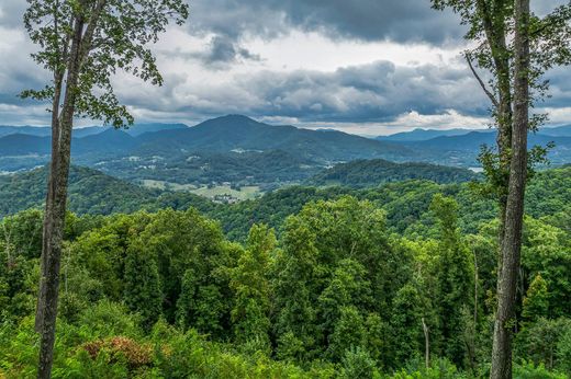
<instances>
[{"instance_id":1,"label":"entire cloudy sky above the mountains, gray and white","mask_svg":"<svg viewBox=\"0 0 571 379\"><path fill-rule=\"evenodd\" d=\"M137 122L189 125L225 114L383 135L485 127L486 99L460 58L463 28L428 0L192 0L191 18L153 47L165 77L126 76L116 92ZM563 0L535 0L546 12ZM45 125L16 97L46 73L30 59L25 0L0 0L0 125ZM571 70L549 72L551 123L571 123Z\"/></svg>"}]
</instances>

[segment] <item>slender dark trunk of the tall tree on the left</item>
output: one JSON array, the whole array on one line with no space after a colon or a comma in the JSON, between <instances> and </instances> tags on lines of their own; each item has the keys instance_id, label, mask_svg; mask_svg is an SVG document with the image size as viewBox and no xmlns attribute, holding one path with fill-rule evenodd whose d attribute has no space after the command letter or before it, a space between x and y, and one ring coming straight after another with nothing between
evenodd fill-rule
<instances>
[{"instance_id":1,"label":"slender dark trunk of the tall tree on the left","mask_svg":"<svg viewBox=\"0 0 571 379\"><path fill-rule=\"evenodd\" d=\"M71 150L71 130L77 87L81 65L83 22L76 20L61 117L53 128L53 151L48 180L44 234L42 244L42 274L36 310L36 329L41 333L38 378L51 378L54 357L59 266L66 217L67 184ZM55 147L55 149L54 149Z\"/></svg>"}]
</instances>

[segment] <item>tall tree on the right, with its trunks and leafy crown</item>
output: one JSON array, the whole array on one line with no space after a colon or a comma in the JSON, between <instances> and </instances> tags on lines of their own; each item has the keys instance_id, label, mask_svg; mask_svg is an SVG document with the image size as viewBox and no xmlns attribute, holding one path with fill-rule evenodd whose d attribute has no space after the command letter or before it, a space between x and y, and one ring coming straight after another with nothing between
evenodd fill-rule
<instances>
[{"instance_id":1,"label":"tall tree on the right, with its trunks and leafy crown","mask_svg":"<svg viewBox=\"0 0 571 379\"><path fill-rule=\"evenodd\" d=\"M486 191L500 204L497 310L494 325L491 378L511 378L511 341L516 282L519 272L524 194L529 169L545 161L545 148L527 151L527 133L545 115L529 118L529 105L541 100L548 83L545 71L571 62L571 4L540 19L529 0L433 0L437 9L451 8L470 26L467 38L478 43L466 53L468 65L492 102L497 126L497 152L484 149L481 162L489 180ZM491 90L474 68L492 73ZM529 157L529 159L528 159Z\"/></svg>"}]
</instances>

